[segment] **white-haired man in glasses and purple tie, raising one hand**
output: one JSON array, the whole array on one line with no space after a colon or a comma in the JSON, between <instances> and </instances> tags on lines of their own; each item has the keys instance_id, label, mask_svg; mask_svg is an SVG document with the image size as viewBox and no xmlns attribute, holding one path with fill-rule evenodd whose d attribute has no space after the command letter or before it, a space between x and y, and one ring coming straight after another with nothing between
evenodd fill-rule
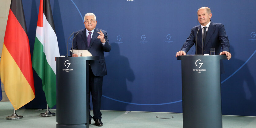
<instances>
[{"instance_id":1,"label":"white-haired man in glasses and purple tie, raising one hand","mask_svg":"<svg viewBox=\"0 0 256 128\"><path fill-rule=\"evenodd\" d=\"M96 126L102 126L101 122L101 96L103 76L107 74L104 51L109 52L111 46L106 31L96 28L97 21L94 13L86 13L84 17L85 29L74 33L73 49L88 50L93 56L99 56L99 60L89 62L89 91L87 91L88 102L90 104L90 93L93 101L93 119ZM71 48L72 49L72 48ZM72 56L78 56L72 54ZM89 109L90 109L89 105ZM90 112L89 112L90 114ZM91 122L91 115L89 121Z\"/></svg>"}]
</instances>

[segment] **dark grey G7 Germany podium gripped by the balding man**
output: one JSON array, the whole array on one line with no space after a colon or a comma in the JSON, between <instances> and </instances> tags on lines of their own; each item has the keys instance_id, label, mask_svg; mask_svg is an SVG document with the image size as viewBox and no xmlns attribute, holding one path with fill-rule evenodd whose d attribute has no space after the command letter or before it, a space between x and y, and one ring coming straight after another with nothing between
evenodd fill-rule
<instances>
[{"instance_id":1,"label":"dark grey G7 Germany podium gripped by the balding man","mask_svg":"<svg viewBox=\"0 0 256 128\"><path fill-rule=\"evenodd\" d=\"M221 128L220 60L226 55L185 55L181 60L184 128Z\"/></svg>"}]
</instances>

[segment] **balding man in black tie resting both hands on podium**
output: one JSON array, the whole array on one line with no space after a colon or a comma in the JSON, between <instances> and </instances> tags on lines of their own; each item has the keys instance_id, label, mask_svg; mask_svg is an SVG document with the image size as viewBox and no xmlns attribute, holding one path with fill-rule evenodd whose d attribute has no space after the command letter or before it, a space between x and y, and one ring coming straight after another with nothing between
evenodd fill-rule
<instances>
[{"instance_id":1,"label":"balding man in black tie resting both hands on podium","mask_svg":"<svg viewBox=\"0 0 256 128\"><path fill-rule=\"evenodd\" d=\"M186 55L197 40L197 54L202 55L203 52L204 54L209 54L210 47L214 47L216 54L226 55L227 59L229 60L231 58L231 54L229 51L229 41L224 29L224 25L211 22L212 12L208 7L201 7L198 9L197 17L200 25L192 28L189 37L181 47L181 51L176 53L176 57L179 55ZM203 46L202 37L204 38Z\"/></svg>"}]
</instances>

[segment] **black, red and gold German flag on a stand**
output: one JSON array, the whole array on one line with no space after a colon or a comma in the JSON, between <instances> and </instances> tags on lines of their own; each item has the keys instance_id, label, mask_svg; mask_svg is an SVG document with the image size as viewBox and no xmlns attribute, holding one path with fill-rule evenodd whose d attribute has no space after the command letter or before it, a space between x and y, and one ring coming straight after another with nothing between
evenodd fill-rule
<instances>
[{"instance_id":1,"label":"black, red and gold German flag on a stand","mask_svg":"<svg viewBox=\"0 0 256 128\"><path fill-rule=\"evenodd\" d=\"M21 0L12 0L0 63L1 81L15 110L35 98L29 38Z\"/></svg>"}]
</instances>

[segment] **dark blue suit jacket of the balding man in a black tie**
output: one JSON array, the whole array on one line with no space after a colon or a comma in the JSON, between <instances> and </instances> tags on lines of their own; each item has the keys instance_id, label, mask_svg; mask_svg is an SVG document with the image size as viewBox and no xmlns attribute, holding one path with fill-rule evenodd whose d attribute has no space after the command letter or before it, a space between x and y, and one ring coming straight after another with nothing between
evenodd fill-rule
<instances>
[{"instance_id":1,"label":"dark blue suit jacket of the balding man in a black tie","mask_svg":"<svg viewBox=\"0 0 256 128\"><path fill-rule=\"evenodd\" d=\"M197 30L198 34L197 34ZM197 35L197 38L196 38ZM202 28L201 24L192 28L188 39L181 47L182 51L188 53L189 49L196 43L196 51L198 55L202 55ZM210 53L210 47L215 47L215 55L219 55L221 51L229 51L229 41L223 24L211 22L207 31L206 41L204 43L204 54ZM196 54L196 52L195 52ZM224 66L220 60L220 73L224 73Z\"/></svg>"}]
</instances>

